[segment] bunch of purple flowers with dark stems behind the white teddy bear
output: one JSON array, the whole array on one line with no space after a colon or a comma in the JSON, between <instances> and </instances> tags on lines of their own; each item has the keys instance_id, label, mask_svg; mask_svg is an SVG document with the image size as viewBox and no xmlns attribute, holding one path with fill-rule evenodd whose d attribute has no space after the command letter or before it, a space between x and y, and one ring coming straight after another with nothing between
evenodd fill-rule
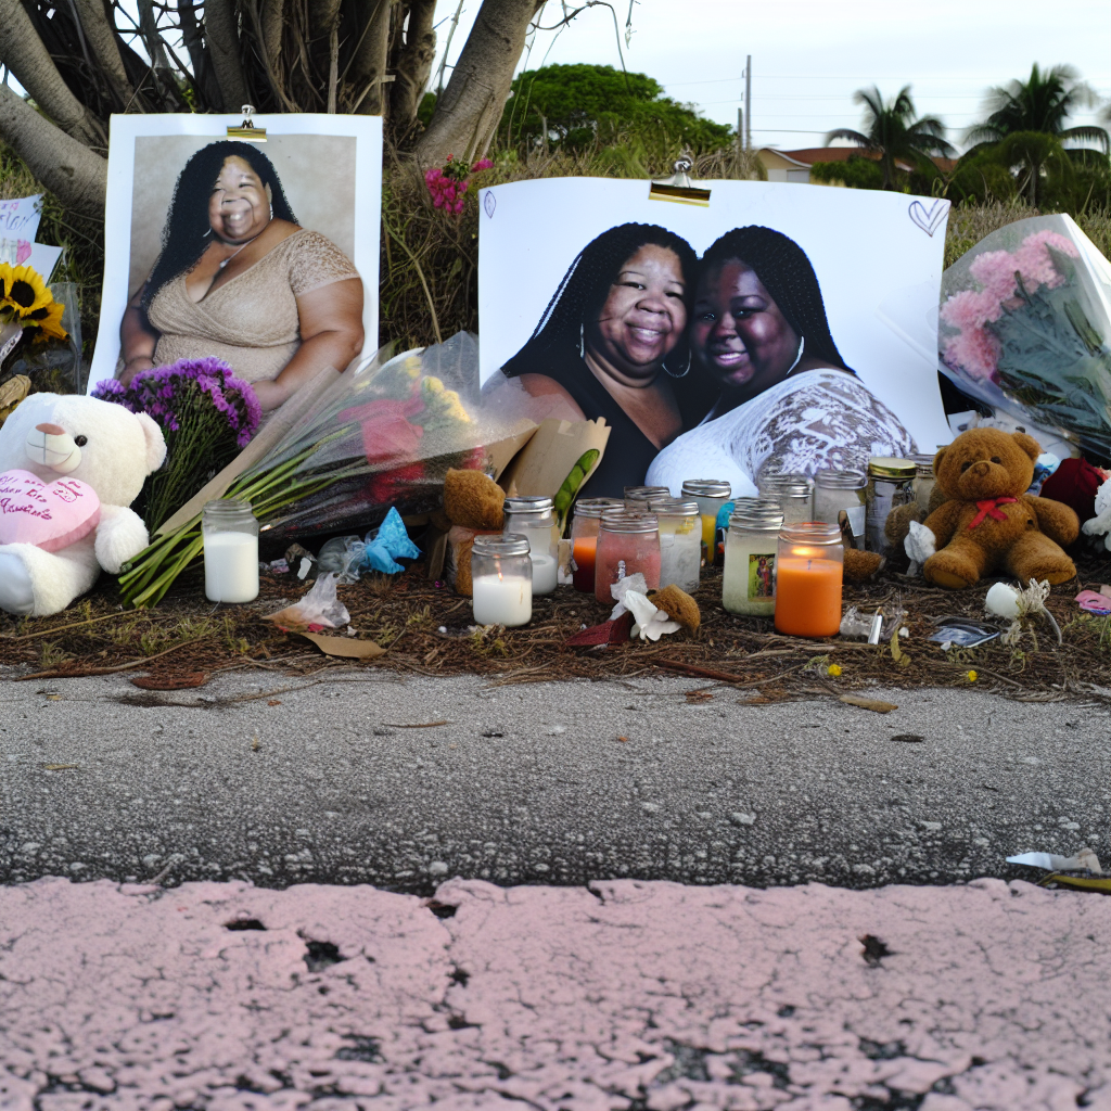
<instances>
[{"instance_id":1,"label":"bunch of purple flowers with dark stems behind the white teddy bear","mask_svg":"<svg viewBox=\"0 0 1111 1111\"><path fill-rule=\"evenodd\" d=\"M166 463L147 479L137 511L153 532L250 442L261 410L254 390L220 359L182 359L92 394L147 412L166 437Z\"/></svg>"}]
</instances>

